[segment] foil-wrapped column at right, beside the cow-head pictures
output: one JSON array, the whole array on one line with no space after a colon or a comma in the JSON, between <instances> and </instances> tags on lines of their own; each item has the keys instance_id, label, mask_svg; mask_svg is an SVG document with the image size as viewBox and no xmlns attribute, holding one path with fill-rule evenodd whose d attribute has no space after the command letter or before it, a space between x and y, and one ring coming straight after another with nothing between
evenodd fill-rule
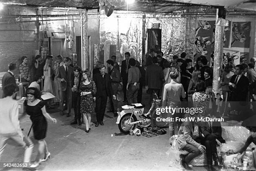
<instances>
[{"instance_id":1,"label":"foil-wrapped column at right, beside the cow-head pictures","mask_svg":"<svg viewBox=\"0 0 256 171\"><path fill-rule=\"evenodd\" d=\"M214 46L214 64L213 64L213 83L212 91L217 97L217 93L221 90L221 73L223 58L223 34L226 20L218 18L215 27L215 46Z\"/></svg>"}]
</instances>

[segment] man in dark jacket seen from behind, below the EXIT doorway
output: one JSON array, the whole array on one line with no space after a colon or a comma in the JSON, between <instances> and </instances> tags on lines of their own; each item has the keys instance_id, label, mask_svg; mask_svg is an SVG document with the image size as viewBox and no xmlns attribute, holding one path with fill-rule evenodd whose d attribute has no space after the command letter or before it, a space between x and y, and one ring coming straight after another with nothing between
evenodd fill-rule
<instances>
[{"instance_id":1,"label":"man in dark jacket seen from behind, below the EXIT doorway","mask_svg":"<svg viewBox=\"0 0 256 171\"><path fill-rule=\"evenodd\" d=\"M156 65L157 57L154 56L152 60L153 64L148 65L146 69L146 90L152 95L153 92L159 97L162 83L164 81L164 73L161 66ZM152 98L152 97L151 97ZM151 99L152 100L152 99Z\"/></svg>"}]
</instances>

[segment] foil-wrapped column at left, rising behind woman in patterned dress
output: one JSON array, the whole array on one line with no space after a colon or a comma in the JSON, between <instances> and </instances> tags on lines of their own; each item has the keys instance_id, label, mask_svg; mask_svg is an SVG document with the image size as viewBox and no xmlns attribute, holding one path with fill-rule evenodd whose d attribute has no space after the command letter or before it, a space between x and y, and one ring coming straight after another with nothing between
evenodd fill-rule
<instances>
[{"instance_id":1,"label":"foil-wrapped column at left, rising behind woman in patterned dress","mask_svg":"<svg viewBox=\"0 0 256 171\"><path fill-rule=\"evenodd\" d=\"M80 19L81 19L81 68L82 70L88 68L88 20L87 20L87 10L79 9Z\"/></svg>"}]
</instances>

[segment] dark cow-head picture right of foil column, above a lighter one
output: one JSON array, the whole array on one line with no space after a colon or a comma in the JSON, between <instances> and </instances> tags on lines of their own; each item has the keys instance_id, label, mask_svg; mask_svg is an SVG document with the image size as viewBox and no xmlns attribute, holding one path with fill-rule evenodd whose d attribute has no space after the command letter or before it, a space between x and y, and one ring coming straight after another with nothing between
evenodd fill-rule
<instances>
[{"instance_id":1,"label":"dark cow-head picture right of foil column, above a lighter one","mask_svg":"<svg viewBox=\"0 0 256 171\"><path fill-rule=\"evenodd\" d=\"M250 48L251 22L233 22L232 24L232 48Z\"/></svg>"}]
</instances>

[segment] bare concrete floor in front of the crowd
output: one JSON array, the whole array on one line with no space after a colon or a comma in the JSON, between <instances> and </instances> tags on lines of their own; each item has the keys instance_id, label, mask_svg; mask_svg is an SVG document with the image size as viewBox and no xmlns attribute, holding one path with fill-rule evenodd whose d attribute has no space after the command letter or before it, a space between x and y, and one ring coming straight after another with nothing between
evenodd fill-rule
<instances>
[{"instance_id":1,"label":"bare concrete floor in front of the crowd","mask_svg":"<svg viewBox=\"0 0 256 171\"><path fill-rule=\"evenodd\" d=\"M122 97L119 98L122 99ZM148 103L147 95L143 96L143 101ZM123 102L120 101L118 105L122 106ZM147 105L146 111L148 109ZM56 112L56 109L54 110L54 113L51 113L52 111L49 113L57 119L57 123L48 121L46 137L51 157L48 161L42 162L37 170L182 170L179 164L173 163L172 156L166 154L170 148L168 133L151 138L123 135L115 123L116 118L113 117L113 113L105 113L104 126L95 127L93 124L91 132L85 133L84 124L82 126L69 124L74 117L73 114L67 118ZM92 114L92 122L95 122L95 113ZM29 117L20 121L20 125L26 135L31 126ZM35 142L31 158L33 161L38 146L33 139L33 131L30 137ZM1 162L22 162L23 153L23 148L16 146L10 140ZM200 167L200 170L205 168Z\"/></svg>"}]
</instances>

